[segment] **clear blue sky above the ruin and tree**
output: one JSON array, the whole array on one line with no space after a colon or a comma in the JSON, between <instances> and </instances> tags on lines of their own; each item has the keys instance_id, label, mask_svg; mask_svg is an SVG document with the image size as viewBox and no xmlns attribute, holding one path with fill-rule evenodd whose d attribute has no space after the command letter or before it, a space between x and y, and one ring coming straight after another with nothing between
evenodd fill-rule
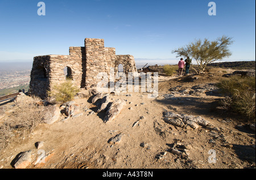
<instances>
[{"instance_id":1,"label":"clear blue sky above the ruin and tree","mask_svg":"<svg viewBox=\"0 0 256 180\"><path fill-rule=\"evenodd\" d=\"M195 39L233 37L227 60L255 60L255 0L84 0L0 1L0 61L68 55L85 37L105 39L117 55L135 60L176 59L172 50Z\"/></svg>"}]
</instances>

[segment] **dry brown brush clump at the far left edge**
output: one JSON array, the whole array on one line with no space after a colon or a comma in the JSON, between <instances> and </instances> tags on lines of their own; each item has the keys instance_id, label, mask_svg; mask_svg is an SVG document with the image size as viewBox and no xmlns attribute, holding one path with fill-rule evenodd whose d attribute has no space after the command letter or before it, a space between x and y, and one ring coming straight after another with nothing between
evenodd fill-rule
<instances>
[{"instance_id":1,"label":"dry brown brush clump at the far left edge","mask_svg":"<svg viewBox=\"0 0 256 180\"><path fill-rule=\"evenodd\" d=\"M11 141L29 135L42 123L44 107L38 106L38 101L39 98L34 97L15 103L13 112L0 126L0 150L6 148Z\"/></svg>"}]
</instances>

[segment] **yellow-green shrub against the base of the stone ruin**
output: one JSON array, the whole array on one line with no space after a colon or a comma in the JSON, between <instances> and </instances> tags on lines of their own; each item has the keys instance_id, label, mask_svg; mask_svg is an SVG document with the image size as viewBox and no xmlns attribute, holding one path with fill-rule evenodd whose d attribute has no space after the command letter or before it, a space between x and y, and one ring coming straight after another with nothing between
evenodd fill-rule
<instances>
[{"instance_id":1,"label":"yellow-green shrub against the base of the stone ruin","mask_svg":"<svg viewBox=\"0 0 256 180\"><path fill-rule=\"evenodd\" d=\"M71 101L78 92L79 88L73 86L72 80L68 79L64 83L53 85L52 90L48 91L48 95L55 99L55 102L65 103Z\"/></svg>"}]
</instances>

